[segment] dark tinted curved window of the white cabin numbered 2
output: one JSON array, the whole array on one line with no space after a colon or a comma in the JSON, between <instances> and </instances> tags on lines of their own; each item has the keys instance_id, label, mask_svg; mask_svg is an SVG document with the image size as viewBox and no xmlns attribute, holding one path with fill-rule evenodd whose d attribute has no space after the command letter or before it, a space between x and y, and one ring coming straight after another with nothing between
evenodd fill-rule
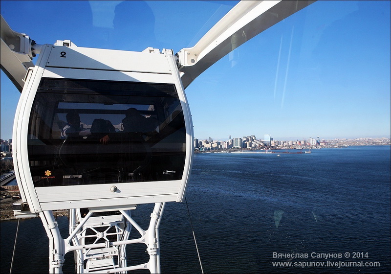
<instances>
[{"instance_id":1,"label":"dark tinted curved window of the white cabin numbered 2","mask_svg":"<svg viewBox=\"0 0 391 274\"><path fill-rule=\"evenodd\" d=\"M28 130L36 187L182 178L186 130L174 84L43 79Z\"/></svg>"}]
</instances>

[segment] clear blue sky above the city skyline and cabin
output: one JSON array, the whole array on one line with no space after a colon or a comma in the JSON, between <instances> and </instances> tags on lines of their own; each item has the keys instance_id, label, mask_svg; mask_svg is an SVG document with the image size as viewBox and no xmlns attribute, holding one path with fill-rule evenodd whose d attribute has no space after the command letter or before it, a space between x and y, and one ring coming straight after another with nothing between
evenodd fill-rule
<instances>
[{"instance_id":1,"label":"clear blue sky above the city skyline and cabin","mask_svg":"<svg viewBox=\"0 0 391 274\"><path fill-rule=\"evenodd\" d=\"M38 44L178 52L238 1L1 1ZM390 1L317 1L246 42L186 89L195 137L390 137ZM1 71L1 138L20 93Z\"/></svg>"}]
</instances>

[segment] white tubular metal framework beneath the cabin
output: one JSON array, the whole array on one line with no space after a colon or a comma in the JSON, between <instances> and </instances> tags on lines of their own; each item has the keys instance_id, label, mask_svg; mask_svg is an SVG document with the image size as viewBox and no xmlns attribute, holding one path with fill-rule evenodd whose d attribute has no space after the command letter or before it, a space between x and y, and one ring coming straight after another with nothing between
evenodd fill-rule
<instances>
[{"instance_id":1,"label":"white tubular metal framework beneath the cabin","mask_svg":"<svg viewBox=\"0 0 391 274\"><path fill-rule=\"evenodd\" d=\"M62 273L65 253L69 251L76 255L76 273L127 273L137 269L160 273L159 226L164 206L165 203L155 204L147 230L131 217L130 209L85 210L85 216L81 209L70 209L69 236L65 239L52 211L43 211L40 217L49 237L49 273ZM131 228L139 232L139 238L129 239ZM147 246L149 261L128 266L126 246L135 243Z\"/></svg>"}]
</instances>

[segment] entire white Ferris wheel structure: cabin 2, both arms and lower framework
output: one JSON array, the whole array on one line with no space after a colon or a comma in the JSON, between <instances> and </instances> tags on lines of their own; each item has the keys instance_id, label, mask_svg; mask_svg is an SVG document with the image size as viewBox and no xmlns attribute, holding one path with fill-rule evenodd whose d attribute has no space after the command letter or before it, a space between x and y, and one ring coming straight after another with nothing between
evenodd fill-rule
<instances>
[{"instance_id":1,"label":"entire white Ferris wheel structure: cabin 2, both arms and lower framework","mask_svg":"<svg viewBox=\"0 0 391 274\"><path fill-rule=\"evenodd\" d=\"M51 273L62 272L68 251L76 252L79 273L160 272L160 218L165 202L184 200L192 166L184 89L221 57L312 2L241 1L194 47L175 55L70 41L34 45L1 17L2 69L22 92L13 132L15 173L27 213L40 213L50 239ZM155 207L143 230L130 210L148 203ZM56 209L71 212L66 239ZM130 227L140 238L128 240ZM147 245L148 263L127 266L125 247L132 243Z\"/></svg>"}]
</instances>

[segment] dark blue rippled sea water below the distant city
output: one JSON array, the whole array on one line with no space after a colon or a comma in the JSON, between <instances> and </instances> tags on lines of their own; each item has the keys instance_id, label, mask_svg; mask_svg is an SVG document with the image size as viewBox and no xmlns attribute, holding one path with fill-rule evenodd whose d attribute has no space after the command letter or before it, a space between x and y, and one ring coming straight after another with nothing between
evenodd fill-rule
<instances>
[{"instance_id":1,"label":"dark blue rippled sea water below the distant city","mask_svg":"<svg viewBox=\"0 0 391 274\"><path fill-rule=\"evenodd\" d=\"M389 273L390 154L390 146L195 154L186 199L204 272ZM152 207L132 212L144 229ZM67 217L57 222L65 237ZM16 226L1 222L1 273ZM129 265L148 260L143 244L127 255ZM162 273L201 273L185 203L166 205L160 255ZM73 254L65 258L64 273L74 273ZM47 272L41 220L23 220L13 273Z\"/></svg>"}]
</instances>

